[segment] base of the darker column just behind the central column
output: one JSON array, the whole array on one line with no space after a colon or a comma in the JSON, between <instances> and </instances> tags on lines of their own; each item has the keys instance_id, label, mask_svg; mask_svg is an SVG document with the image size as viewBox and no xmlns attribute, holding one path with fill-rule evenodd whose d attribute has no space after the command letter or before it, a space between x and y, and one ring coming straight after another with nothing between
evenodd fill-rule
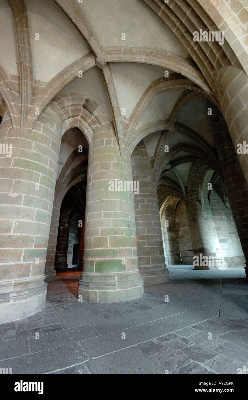
<instances>
[{"instance_id":1,"label":"base of the darker column just behind the central column","mask_svg":"<svg viewBox=\"0 0 248 400\"><path fill-rule=\"evenodd\" d=\"M158 283L169 282L170 276L166 265L142 266L139 267L139 273L143 279L144 285L154 285Z\"/></svg>"}]
</instances>

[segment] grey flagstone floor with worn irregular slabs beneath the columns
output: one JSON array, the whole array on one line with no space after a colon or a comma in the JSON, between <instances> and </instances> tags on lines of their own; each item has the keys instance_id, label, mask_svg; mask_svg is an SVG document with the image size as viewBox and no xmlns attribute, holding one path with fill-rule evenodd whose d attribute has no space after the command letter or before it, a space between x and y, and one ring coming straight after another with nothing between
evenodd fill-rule
<instances>
[{"instance_id":1,"label":"grey flagstone floor with worn irregular slabs beneath the columns","mask_svg":"<svg viewBox=\"0 0 248 400\"><path fill-rule=\"evenodd\" d=\"M48 283L41 312L0 325L0 368L12 374L237 374L248 368L244 270L173 266L169 272L170 282L110 304L78 302L79 276L60 274Z\"/></svg>"}]
</instances>

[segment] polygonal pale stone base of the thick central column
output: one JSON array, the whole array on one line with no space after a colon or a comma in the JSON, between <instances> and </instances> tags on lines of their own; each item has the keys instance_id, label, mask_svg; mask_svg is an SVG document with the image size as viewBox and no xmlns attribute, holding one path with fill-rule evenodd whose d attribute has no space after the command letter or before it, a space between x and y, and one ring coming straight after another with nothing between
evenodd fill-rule
<instances>
[{"instance_id":1,"label":"polygonal pale stone base of the thick central column","mask_svg":"<svg viewBox=\"0 0 248 400\"><path fill-rule=\"evenodd\" d=\"M132 300L144 293L139 271L97 274L82 272L79 280L78 296L94 303L113 303Z\"/></svg>"}]
</instances>

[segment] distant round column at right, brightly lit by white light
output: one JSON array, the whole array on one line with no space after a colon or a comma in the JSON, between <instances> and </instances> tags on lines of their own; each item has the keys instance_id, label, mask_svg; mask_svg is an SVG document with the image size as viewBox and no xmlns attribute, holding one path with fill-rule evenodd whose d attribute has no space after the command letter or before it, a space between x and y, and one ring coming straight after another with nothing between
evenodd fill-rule
<instances>
[{"instance_id":1,"label":"distant round column at right, brightly lit by white light","mask_svg":"<svg viewBox=\"0 0 248 400\"><path fill-rule=\"evenodd\" d=\"M188 228L192 241L192 248L195 256L200 258L200 254L208 257L217 257L219 261L206 263L206 266L195 266L197 270L217 270L226 269L226 263L221 254L220 243L216 233L212 211L208 202L206 192L207 183L210 182L208 173L202 182L201 204L198 198L198 184L204 174L204 166L195 164L189 174L188 180ZM193 182L196 184L193 185ZM216 265L217 264L217 265Z\"/></svg>"}]
</instances>

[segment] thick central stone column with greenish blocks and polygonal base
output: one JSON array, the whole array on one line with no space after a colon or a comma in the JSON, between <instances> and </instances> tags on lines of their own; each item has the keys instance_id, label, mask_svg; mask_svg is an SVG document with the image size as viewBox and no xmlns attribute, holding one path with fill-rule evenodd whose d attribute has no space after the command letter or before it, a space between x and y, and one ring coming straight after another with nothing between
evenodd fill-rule
<instances>
[{"instance_id":1,"label":"thick central stone column with greenish blocks and polygonal base","mask_svg":"<svg viewBox=\"0 0 248 400\"><path fill-rule=\"evenodd\" d=\"M131 160L121 159L115 134L107 129L95 131L89 146L83 272L78 288L83 300L106 303L143 294L133 192L109 191L117 181L132 180Z\"/></svg>"}]
</instances>

